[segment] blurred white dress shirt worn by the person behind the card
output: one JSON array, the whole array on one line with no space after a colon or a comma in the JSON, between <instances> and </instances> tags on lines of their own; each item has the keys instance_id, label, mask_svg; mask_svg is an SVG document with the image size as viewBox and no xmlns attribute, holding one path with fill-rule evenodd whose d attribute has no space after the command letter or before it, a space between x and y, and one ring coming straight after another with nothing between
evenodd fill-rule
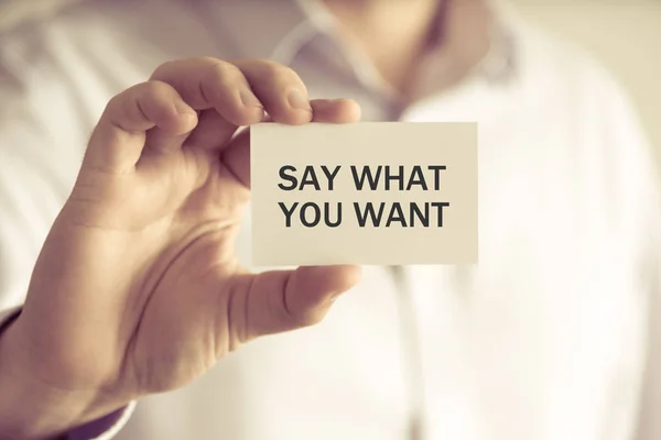
<instances>
[{"instance_id":1,"label":"blurred white dress shirt worn by the person behind the card","mask_svg":"<svg viewBox=\"0 0 661 440\"><path fill-rule=\"evenodd\" d=\"M112 95L173 58L272 58L366 120L478 121L479 265L367 267L323 323L140 400L116 439L661 438L639 428L657 398L652 156L598 65L501 12L484 63L441 91L437 59L408 107L318 6L91 0L2 35L0 309L23 301Z\"/></svg>"}]
</instances>

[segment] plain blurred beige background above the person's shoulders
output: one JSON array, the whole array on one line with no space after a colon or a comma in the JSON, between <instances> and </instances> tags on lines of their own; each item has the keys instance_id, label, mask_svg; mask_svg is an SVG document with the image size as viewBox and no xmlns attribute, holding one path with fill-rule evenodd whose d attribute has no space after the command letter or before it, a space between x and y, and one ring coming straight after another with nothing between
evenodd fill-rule
<instances>
[{"instance_id":1,"label":"plain blurred beige background above the person's shoulders","mask_svg":"<svg viewBox=\"0 0 661 440\"><path fill-rule=\"evenodd\" d=\"M84 0L0 0L0 31ZM506 0L587 48L631 95L661 162L661 0Z\"/></svg>"}]
</instances>

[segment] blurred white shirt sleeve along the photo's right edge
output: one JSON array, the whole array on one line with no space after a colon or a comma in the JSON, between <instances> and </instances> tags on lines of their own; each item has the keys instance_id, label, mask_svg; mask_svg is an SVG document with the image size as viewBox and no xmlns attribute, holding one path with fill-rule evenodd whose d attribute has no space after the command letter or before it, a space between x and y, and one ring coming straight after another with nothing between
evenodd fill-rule
<instances>
[{"instance_id":1,"label":"blurred white shirt sleeve along the photo's right edge","mask_svg":"<svg viewBox=\"0 0 661 440\"><path fill-rule=\"evenodd\" d=\"M600 88L599 102L607 102L599 130L609 144L614 190L626 224L624 245L636 258L636 288L641 307L643 346L631 429L608 438L661 439L661 194L659 161L629 97L611 79ZM614 405L618 405L614 403ZM610 420L605 420L608 424ZM629 427L629 424L625 424ZM632 432L631 435L629 432Z\"/></svg>"}]
</instances>

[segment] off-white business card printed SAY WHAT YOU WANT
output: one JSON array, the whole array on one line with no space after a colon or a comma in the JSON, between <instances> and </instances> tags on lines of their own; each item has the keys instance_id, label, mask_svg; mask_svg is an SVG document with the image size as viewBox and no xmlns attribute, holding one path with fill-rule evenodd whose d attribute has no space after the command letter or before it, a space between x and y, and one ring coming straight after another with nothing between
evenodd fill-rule
<instances>
[{"instance_id":1,"label":"off-white business card printed SAY WHAT YOU WANT","mask_svg":"<svg viewBox=\"0 0 661 440\"><path fill-rule=\"evenodd\" d=\"M254 265L477 263L477 124L251 128Z\"/></svg>"}]
</instances>

